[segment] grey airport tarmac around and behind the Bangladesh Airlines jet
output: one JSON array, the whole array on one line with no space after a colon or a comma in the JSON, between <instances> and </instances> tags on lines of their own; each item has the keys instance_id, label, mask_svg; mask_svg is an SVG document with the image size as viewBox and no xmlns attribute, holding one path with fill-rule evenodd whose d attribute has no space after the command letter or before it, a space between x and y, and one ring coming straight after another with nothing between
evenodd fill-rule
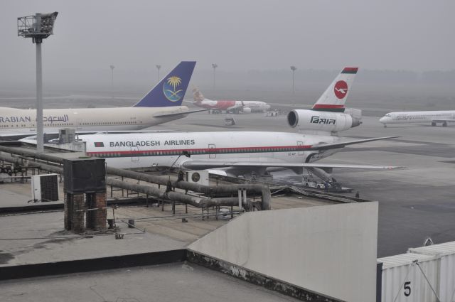
<instances>
[{"instance_id":1,"label":"grey airport tarmac around and behind the Bangladesh Airlines jet","mask_svg":"<svg viewBox=\"0 0 455 302\"><path fill-rule=\"evenodd\" d=\"M181 131L296 131L286 115L230 114L237 124L224 126L226 114L191 114L154 129ZM442 243L455 240L455 126L411 124L384 128L378 117L363 117L363 124L340 136L368 138L400 136L350 146L321 163L370 163L405 166L393 171L336 169L333 177L361 198L380 204L378 257L402 254L422 246L427 237ZM292 174L289 179L299 180ZM353 193L351 193L352 195Z\"/></svg>"}]
</instances>

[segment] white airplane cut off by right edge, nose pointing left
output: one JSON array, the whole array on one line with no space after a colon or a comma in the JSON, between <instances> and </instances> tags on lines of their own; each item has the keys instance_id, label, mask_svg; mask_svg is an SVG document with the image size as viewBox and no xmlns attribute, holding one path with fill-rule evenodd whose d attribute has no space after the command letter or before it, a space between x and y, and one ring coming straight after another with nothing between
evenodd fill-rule
<instances>
[{"instance_id":1,"label":"white airplane cut off by right edge, nose pointing left","mask_svg":"<svg viewBox=\"0 0 455 302\"><path fill-rule=\"evenodd\" d=\"M441 123L447 126L448 122L455 122L455 110L446 111L409 111L409 112L389 112L379 119L379 122L387 127L387 124L410 124L431 122L432 126Z\"/></svg>"}]
</instances>

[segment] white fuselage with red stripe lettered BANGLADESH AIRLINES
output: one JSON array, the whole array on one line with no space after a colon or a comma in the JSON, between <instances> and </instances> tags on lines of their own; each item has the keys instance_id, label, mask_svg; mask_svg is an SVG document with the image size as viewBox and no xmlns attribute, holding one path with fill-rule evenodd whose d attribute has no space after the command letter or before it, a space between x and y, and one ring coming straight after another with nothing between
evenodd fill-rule
<instances>
[{"instance_id":1,"label":"white fuselage with red stripe lettered BANGLADESH AIRLINES","mask_svg":"<svg viewBox=\"0 0 455 302\"><path fill-rule=\"evenodd\" d=\"M92 134L79 138L86 142L87 155L106 158L108 166L117 168L178 167L185 161L304 163L338 151L306 151L310 146L339 139L261 131ZM183 151L191 157L182 155Z\"/></svg>"}]
</instances>

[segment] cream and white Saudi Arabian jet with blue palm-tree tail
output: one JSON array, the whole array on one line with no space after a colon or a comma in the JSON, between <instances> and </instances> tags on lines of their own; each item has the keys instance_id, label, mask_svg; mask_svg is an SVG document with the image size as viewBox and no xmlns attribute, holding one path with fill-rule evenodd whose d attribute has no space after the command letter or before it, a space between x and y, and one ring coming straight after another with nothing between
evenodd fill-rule
<instances>
[{"instance_id":1,"label":"cream and white Saudi Arabian jet with blue palm-tree tail","mask_svg":"<svg viewBox=\"0 0 455 302\"><path fill-rule=\"evenodd\" d=\"M181 62L133 107L44 109L44 132L58 129L81 131L132 131L154 126L189 113L181 106L196 62ZM0 136L36 133L36 110L0 107Z\"/></svg>"}]
</instances>

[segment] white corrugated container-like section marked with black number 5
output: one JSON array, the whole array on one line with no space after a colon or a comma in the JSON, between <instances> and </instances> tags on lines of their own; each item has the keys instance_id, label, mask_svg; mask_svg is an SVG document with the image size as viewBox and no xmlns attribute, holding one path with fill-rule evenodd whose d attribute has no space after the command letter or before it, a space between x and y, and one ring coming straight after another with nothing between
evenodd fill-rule
<instances>
[{"instance_id":1,"label":"white corrugated container-like section marked with black number 5","mask_svg":"<svg viewBox=\"0 0 455 302\"><path fill-rule=\"evenodd\" d=\"M379 258L378 262L382 262L382 302L437 302L431 288L438 281L436 257L408 253Z\"/></svg>"}]
</instances>

